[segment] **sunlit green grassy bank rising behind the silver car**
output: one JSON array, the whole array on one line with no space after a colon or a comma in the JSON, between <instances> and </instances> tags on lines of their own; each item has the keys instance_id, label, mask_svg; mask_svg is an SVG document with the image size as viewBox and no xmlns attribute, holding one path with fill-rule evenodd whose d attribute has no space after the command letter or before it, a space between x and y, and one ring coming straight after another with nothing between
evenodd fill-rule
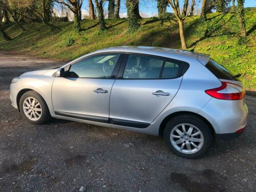
<instances>
[{"instance_id":1,"label":"sunlit green grassy bank rising behind the silver car","mask_svg":"<svg viewBox=\"0 0 256 192\"><path fill-rule=\"evenodd\" d=\"M256 90L256 8L246 9L248 37L239 37L239 26L233 13L211 13L207 21L198 16L185 21L187 45L196 52L210 54L233 73L243 74L246 89ZM6 26L12 38L5 41L0 36L0 49L30 55L72 60L83 54L111 46L141 45L180 49L178 24L172 19L146 18L139 21L137 32L127 33L127 20L106 20L108 30L99 31L97 20L83 20L83 31L76 34L72 22L55 22L58 30L44 24L24 24L20 31L14 24Z\"/></svg>"}]
</instances>

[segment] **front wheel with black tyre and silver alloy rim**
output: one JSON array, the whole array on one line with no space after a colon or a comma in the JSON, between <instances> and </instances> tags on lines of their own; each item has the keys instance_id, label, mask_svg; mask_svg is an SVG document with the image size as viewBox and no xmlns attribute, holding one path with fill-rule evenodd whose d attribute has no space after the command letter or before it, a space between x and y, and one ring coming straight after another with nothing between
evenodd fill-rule
<instances>
[{"instance_id":1,"label":"front wheel with black tyre and silver alloy rim","mask_svg":"<svg viewBox=\"0 0 256 192\"><path fill-rule=\"evenodd\" d=\"M33 124L44 124L51 119L45 100L35 91L28 91L19 100L22 116Z\"/></svg>"}]
</instances>

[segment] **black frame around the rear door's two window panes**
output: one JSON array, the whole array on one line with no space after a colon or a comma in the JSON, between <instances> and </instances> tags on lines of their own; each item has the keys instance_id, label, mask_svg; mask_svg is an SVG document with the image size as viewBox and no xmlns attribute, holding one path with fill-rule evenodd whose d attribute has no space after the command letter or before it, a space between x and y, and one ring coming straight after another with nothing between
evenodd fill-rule
<instances>
[{"instance_id":1,"label":"black frame around the rear door's two window panes","mask_svg":"<svg viewBox=\"0 0 256 192\"><path fill-rule=\"evenodd\" d=\"M153 58L155 57L157 59L163 59L164 62L163 62L163 65L161 67L159 77L158 78L123 78L123 73L125 71L125 66L126 66L127 60L128 60L130 55L147 56L147 57L153 57ZM173 62L173 63L178 62L178 63L182 64L182 66L181 66L181 68L178 72L179 74L176 77L162 78L162 74L163 74L163 70L164 70L166 61ZM181 60L177 60L177 59L173 59L173 58L162 57L162 56L157 56L157 55L150 55L150 54L143 54L143 53L127 53L126 52L126 53L124 53L122 61L120 63L120 68L119 68L119 71L118 71L118 74L117 74L117 79L125 79L125 80L176 79L176 78L179 78L182 75L184 75L184 73L187 71L188 68L189 68L189 63L187 63L185 61L181 61Z\"/></svg>"}]
</instances>

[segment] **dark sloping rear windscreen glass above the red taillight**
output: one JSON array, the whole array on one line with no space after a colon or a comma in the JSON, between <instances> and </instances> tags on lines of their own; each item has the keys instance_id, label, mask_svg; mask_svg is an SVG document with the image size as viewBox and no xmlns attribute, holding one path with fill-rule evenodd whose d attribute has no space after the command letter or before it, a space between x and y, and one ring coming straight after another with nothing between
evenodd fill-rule
<instances>
[{"instance_id":1,"label":"dark sloping rear windscreen glass above the red taillight","mask_svg":"<svg viewBox=\"0 0 256 192\"><path fill-rule=\"evenodd\" d=\"M217 63L215 60L210 59L205 67L219 79L239 81L238 78L233 77L234 75L232 73L230 73L227 69L225 69L219 63Z\"/></svg>"}]
</instances>

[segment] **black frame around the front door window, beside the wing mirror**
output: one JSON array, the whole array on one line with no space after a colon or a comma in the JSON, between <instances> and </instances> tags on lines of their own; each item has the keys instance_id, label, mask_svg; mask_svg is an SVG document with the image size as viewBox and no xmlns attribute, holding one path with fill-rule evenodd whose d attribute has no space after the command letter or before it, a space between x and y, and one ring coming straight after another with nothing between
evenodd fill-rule
<instances>
[{"instance_id":1,"label":"black frame around the front door window, beside the wing mirror","mask_svg":"<svg viewBox=\"0 0 256 192\"><path fill-rule=\"evenodd\" d=\"M67 71L70 70L72 65L75 65L77 62L80 62L81 60L88 59L90 57L94 57L94 56L97 56L97 55L106 55L106 54L120 54L120 56L119 56L119 58L117 60L117 63L115 65L114 69L113 69L113 72L111 74L111 77L109 77L109 78L102 78L102 77L79 77L78 76L77 78L83 78L83 79L116 79L118 71L119 71L120 66L121 66L121 62L122 62L123 56L124 56L123 52L104 52L104 53L96 53L96 54L93 54L93 55L89 55L88 57L81 58L81 59L75 61L74 63L71 63L69 65L69 69Z\"/></svg>"}]
</instances>

